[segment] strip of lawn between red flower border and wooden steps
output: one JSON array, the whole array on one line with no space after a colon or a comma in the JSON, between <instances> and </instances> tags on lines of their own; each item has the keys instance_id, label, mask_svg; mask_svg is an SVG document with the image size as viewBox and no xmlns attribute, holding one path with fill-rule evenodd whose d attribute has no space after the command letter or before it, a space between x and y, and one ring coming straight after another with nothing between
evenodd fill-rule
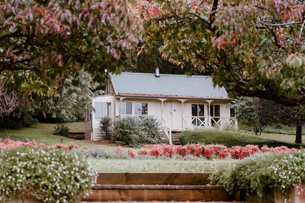
<instances>
[{"instance_id":1,"label":"strip of lawn between red flower border and wooden steps","mask_svg":"<svg viewBox=\"0 0 305 203\"><path fill-rule=\"evenodd\" d=\"M237 162L239 160L234 160ZM99 173L203 173L211 172L216 163L227 165L228 160L138 160L138 159L89 159Z\"/></svg>"}]
</instances>

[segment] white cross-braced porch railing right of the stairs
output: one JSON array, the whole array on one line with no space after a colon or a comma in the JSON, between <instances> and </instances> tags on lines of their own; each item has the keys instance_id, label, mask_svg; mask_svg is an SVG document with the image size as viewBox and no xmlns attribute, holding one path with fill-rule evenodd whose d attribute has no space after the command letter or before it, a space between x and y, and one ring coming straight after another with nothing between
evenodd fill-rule
<instances>
[{"instance_id":1,"label":"white cross-braced porch railing right of the stairs","mask_svg":"<svg viewBox=\"0 0 305 203\"><path fill-rule=\"evenodd\" d=\"M182 128L194 129L201 127L223 126L228 124L231 128L237 129L235 117L206 117L206 116L183 116Z\"/></svg>"}]
</instances>

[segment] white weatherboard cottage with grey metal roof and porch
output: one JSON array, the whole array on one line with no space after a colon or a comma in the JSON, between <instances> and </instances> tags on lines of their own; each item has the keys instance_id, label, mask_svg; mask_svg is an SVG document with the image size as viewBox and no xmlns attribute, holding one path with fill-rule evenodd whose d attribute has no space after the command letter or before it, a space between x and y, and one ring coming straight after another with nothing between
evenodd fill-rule
<instances>
[{"instance_id":1,"label":"white weatherboard cottage with grey metal roof and porch","mask_svg":"<svg viewBox=\"0 0 305 203\"><path fill-rule=\"evenodd\" d=\"M213 87L210 76L123 72L109 74L105 95L92 100L95 112L85 114L85 139L104 139L99 118L158 117L165 138L171 144L185 129L227 124L237 128L231 117L224 87Z\"/></svg>"}]
</instances>

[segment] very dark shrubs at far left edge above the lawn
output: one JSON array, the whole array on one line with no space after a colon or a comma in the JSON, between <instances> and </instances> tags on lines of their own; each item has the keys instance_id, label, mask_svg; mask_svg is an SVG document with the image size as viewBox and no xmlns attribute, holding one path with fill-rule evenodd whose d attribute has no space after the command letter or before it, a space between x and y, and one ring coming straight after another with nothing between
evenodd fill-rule
<instances>
[{"instance_id":1,"label":"very dark shrubs at far left edge above the lawn","mask_svg":"<svg viewBox=\"0 0 305 203\"><path fill-rule=\"evenodd\" d=\"M37 119L34 118L34 112L31 110L22 110L20 117L18 116L3 116L0 118L0 129L21 129L28 128L31 125L37 123Z\"/></svg>"}]
</instances>

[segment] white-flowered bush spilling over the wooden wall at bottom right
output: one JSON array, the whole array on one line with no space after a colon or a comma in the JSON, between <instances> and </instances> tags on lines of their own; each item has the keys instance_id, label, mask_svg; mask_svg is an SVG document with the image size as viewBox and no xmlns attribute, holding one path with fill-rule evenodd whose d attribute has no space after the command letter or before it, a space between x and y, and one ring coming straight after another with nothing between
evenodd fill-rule
<instances>
[{"instance_id":1,"label":"white-flowered bush spilling over the wooden wall at bottom right","mask_svg":"<svg viewBox=\"0 0 305 203\"><path fill-rule=\"evenodd\" d=\"M252 159L255 156L260 158L260 161ZM256 191L259 196L264 194L266 187L278 189L282 194L286 194L292 185L299 189L304 187L304 150L269 156L253 155L253 157L231 163L227 167L216 166L209 177L210 184L223 185L230 194L235 187L246 187Z\"/></svg>"}]
</instances>

